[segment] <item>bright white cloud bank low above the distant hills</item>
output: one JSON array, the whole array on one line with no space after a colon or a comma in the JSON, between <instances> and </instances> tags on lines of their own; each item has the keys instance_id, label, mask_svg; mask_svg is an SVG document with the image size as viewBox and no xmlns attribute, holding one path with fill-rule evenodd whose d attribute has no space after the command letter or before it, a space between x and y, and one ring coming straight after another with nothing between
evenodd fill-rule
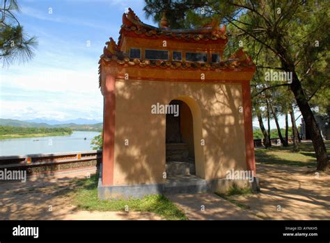
<instances>
[{"instance_id":1,"label":"bright white cloud bank low above the distant hills","mask_svg":"<svg viewBox=\"0 0 330 243\"><path fill-rule=\"evenodd\" d=\"M1 118L102 119L97 69L36 69L1 75Z\"/></svg>"}]
</instances>

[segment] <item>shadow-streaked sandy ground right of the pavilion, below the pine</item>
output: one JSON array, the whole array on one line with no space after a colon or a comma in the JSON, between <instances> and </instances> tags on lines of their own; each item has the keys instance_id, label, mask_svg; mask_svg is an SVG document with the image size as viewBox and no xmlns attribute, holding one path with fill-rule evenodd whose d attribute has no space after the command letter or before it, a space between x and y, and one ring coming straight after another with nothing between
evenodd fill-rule
<instances>
[{"instance_id":1,"label":"shadow-streaked sandy ground right of the pavilion, below the pine","mask_svg":"<svg viewBox=\"0 0 330 243\"><path fill-rule=\"evenodd\" d=\"M262 192L231 196L261 219L330 219L330 176L307 167L257 165Z\"/></svg>"}]
</instances>

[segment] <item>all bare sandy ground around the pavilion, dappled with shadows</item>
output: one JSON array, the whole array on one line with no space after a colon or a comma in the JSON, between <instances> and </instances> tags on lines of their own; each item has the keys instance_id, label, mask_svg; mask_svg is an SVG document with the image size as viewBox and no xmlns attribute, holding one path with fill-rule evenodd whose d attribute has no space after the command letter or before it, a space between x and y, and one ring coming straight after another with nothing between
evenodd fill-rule
<instances>
[{"instance_id":1,"label":"all bare sandy ground around the pavilion, dappled with shadows","mask_svg":"<svg viewBox=\"0 0 330 243\"><path fill-rule=\"evenodd\" d=\"M242 210L214 194L169 196L189 219L330 219L330 176L306 167L257 165L262 192L232 196ZM84 174L75 175L78 177ZM72 175L0 184L0 219L161 219L150 212L88 212L72 205ZM205 210L201 210L204 206Z\"/></svg>"}]
</instances>

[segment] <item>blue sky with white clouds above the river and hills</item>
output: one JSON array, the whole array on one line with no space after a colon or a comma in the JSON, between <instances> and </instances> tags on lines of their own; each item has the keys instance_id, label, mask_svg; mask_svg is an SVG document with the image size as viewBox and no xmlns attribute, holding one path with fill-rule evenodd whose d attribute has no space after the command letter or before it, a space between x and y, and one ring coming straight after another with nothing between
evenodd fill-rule
<instances>
[{"instance_id":1,"label":"blue sky with white clouds above the river and hills","mask_svg":"<svg viewBox=\"0 0 330 243\"><path fill-rule=\"evenodd\" d=\"M143 22L157 25L145 18L144 1L21 0L19 4L17 18L39 44L33 60L1 69L0 117L102 121L97 62L109 37L118 39L126 8ZM280 123L283 126L283 117Z\"/></svg>"}]
</instances>

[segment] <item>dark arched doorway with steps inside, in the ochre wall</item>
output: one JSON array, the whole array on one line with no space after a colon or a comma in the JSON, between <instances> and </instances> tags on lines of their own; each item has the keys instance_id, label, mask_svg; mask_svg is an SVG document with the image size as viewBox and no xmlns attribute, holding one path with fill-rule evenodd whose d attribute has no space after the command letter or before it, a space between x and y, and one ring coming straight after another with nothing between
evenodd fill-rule
<instances>
[{"instance_id":1,"label":"dark arched doorway with steps inside, in the ochre wall","mask_svg":"<svg viewBox=\"0 0 330 243\"><path fill-rule=\"evenodd\" d=\"M194 119L182 100L173 99L166 112L166 173L196 174Z\"/></svg>"}]
</instances>

